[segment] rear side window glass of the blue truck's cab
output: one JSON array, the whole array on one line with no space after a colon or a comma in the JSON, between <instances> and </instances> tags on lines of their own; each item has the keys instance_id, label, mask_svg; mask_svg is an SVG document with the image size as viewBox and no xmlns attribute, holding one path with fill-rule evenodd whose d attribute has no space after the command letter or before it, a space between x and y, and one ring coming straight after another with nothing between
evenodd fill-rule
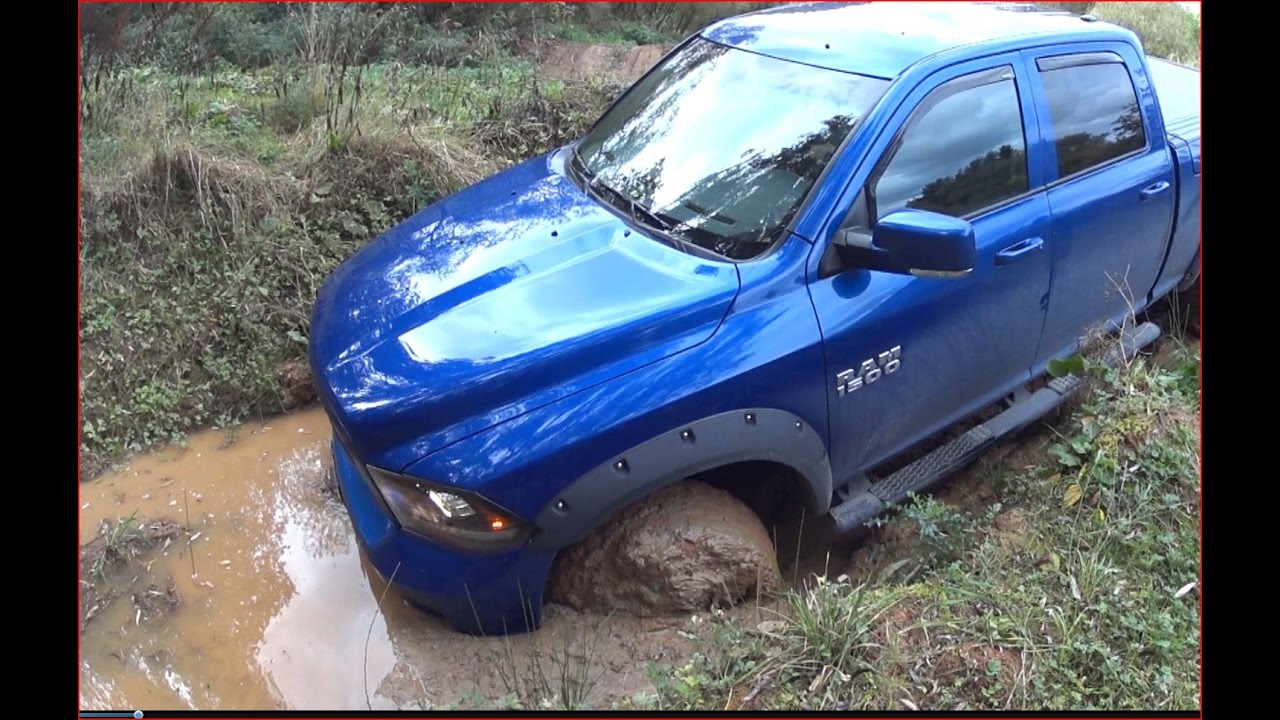
<instances>
[{"instance_id":1,"label":"rear side window glass of the blue truck's cab","mask_svg":"<svg viewBox=\"0 0 1280 720\"><path fill-rule=\"evenodd\" d=\"M1147 146L1129 70L1120 63L1041 72L1065 178Z\"/></svg>"}]
</instances>

